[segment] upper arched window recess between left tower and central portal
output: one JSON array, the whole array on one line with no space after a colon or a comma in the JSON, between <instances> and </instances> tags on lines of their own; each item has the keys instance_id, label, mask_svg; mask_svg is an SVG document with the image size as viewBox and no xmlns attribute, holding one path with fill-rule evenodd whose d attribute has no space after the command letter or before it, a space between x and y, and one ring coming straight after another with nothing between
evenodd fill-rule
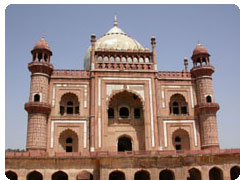
<instances>
[{"instance_id":1,"label":"upper arched window recess between left tower and central portal","mask_svg":"<svg viewBox=\"0 0 240 180\"><path fill-rule=\"evenodd\" d=\"M79 114L79 102L75 94L67 93L62 96L59 113L60 115Z\"/></svg>"}]
</instances>

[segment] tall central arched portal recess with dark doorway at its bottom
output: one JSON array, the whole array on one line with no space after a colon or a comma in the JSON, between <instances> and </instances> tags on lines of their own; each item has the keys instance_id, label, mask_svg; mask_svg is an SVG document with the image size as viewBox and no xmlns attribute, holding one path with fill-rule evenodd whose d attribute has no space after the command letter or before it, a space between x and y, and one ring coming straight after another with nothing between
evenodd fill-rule
<instances>
[{"instance_id":1,"label":"tall central arched portal recess with dark doorway at its bottom","mask_svg":"<svg viewBox=\"0 0 240 180\"><path fill-rule=\"evenodd\" d=\"M113 94L107 102L106 111L108 117L108 132L112 139L116 139L117 151L144 151L145 150L145 128L143 100L133 92L124 90ZM123 136L126 133L131 138ZM134 146L133 143L134 142ZM109 144L112 148L116 145Z\"/></svg>"}]
</instances>

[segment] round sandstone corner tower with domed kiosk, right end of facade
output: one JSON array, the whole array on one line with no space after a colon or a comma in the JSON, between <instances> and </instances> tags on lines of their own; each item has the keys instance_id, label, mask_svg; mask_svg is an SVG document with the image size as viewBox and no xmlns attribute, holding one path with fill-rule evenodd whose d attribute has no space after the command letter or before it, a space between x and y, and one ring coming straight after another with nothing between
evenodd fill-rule
<instances>
[{"instance_id":1,"label":"round sandstone corner tower with domed kiosk, right end of facade","mask_svg":"<svg viewBox=\"0 0 240 180\"><path fill-rule=\"evenodd\" d=\"M200 123L202 149L218 149L218 130L216 113L219 105L214 101L212 74L215 69L210 65L210 54L198 44L193 51L191 73L196 81L197 105L195 110Z\"/></svg>"}]
</instances>

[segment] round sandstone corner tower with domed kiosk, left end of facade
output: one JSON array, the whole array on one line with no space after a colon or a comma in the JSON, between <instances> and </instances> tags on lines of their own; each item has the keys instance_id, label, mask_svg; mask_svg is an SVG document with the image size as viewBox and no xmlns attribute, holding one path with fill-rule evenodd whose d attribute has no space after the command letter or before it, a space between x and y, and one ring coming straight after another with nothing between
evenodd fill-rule
<instances>
[{"instance_id":1,"label":"round sandstone corner tower with domed kiosk, left end of facade","mask_svg":"<svg viewBox=\"0 0 240 180\"><path fill-rule=\"evenodd\" d=\"M29 102L25 104L28 112L27 150L46 151L47 119L51 111L48 101L49 77L53 66L50 64L52 52L42 38L36 43L32 53L32 62L28 64L31 74Z\"/></svg>"}]
</instances>

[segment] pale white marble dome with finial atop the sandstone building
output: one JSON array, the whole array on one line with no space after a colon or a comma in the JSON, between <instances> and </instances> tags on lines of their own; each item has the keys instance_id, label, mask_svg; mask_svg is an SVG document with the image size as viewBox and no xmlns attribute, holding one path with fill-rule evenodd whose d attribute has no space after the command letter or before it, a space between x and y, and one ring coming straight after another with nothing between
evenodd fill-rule
<instances>
[{"instance_id":1,"label":"pale white marble dome with finial atop the sandstone building","mask_svg":"<svg viewBox=\"0 0 240 180\"><path fill-rule=\"evenodd\" d=\"M118 26L116 19L114 20L114 27L111 28L104 36L99 38L95 43L95 50L139 50L143 51L142 45L135 39L125 34ZM84 57L84 69L90 69L90 51L91 46L88 48Z\"/></svg>"}]
</instances>

